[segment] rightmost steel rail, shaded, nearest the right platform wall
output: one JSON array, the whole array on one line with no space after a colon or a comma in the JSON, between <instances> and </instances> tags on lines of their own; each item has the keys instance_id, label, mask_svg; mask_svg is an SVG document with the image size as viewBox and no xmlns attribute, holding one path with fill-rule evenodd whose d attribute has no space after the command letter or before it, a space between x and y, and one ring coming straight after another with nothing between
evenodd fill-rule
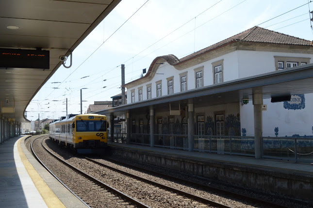
<instances>
[{"instance_id":1,"label":"rightmost steel rail, shaded, nearest the right platform wall","mask_svg":"<svg viewBox=\"0 0 313 208\"><path fill-rule=\"evenodd\" d=\"M250 200L250 202L262 203L262 204L264 204L266 206L273 207L273 208L288 208L287 206L276 204L276 203L273 203L271 201L266 201L266 200L263 200L263 199L258 199L258 198L255 198L255 197L247 196L247 195L244 195L244 194L241 194L241 193L231 192L229 190L219 189L219 188L216 188L216 187L213 187L213 186L204 185L204 184L197 183L197 182L190 181L190 180L186 180L186 179L183 179L183 178L170 176L170 175L167 175L167 174L164 174L164 173L159 173L159 172L156 172L156 171L148 170L148 169L136 166L136 165L128 164L128 163L125 163L125 162L122 162L122 161L118 161L118 160L114 160L114 159L111 159L111 158L110 159L105 158L105 160L109 160L109 161L114 162L114 163L119 163L119 164L124 165L124 166L129 166L129 167L132 167L132 168L136 168L136 169L138 169L140 171L145 171L145 172L148 172L150 174L152 173L152 174L163 176L163 177L167 177L167 178L170 178L170 179L173 179L173 180L179 180L179 181L182 181L184 183L188 183L188 184L191 184L193 186L197 186L197 187L202 188L204 190L208 190L209 189L210 191L215 191L215 192L219 192L219 193L222 193L222 194L228 194L228 195L231 195L231 196L233 196L235 198L239 198L239 199L242 199L242 200L245 200L245 201ZM238 188L238 187L236 187L236 188ZM256 191L256 192L258 194L264 194L263 192L258 192L258 191ZM275 197L279 197L279 196L275 196ZM284 197L280 197L280 199L286 200L286 198L284 198ZM294 201L294 200L292 200L292 201ZM299 201L294 201L294 202L296 202L296 203L304 203L302 201L300 201L300 202Z\"/></svg>"}]
</instances>

